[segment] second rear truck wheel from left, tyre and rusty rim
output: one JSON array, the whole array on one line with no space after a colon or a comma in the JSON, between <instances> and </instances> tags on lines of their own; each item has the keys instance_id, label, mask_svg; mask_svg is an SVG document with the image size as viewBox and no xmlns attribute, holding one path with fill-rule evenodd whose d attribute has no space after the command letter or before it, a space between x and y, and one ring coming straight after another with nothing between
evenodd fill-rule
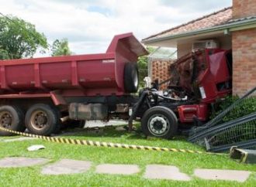
<instances>
[{"instance_id":1,"label":"second rear truck wheel from left, tyre and rusty rim","mask_svg":"<svg viewBox=\"0 0 256 187\"><path fill-rule=\"evenodd\" d=\"M59 128L57 110L47 104L35 104L26 112L26 128L32 134L50 135Z\"/></svg>"}]
</instances>

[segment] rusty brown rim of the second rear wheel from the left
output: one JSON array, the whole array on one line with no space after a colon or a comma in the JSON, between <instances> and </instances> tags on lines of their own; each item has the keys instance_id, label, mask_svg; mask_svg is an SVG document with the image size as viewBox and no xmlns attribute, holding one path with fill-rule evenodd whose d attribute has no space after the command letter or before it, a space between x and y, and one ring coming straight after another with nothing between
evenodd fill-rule
<instances>
[{"instance_id":1,"label":"rusty brown rim of the second rear wheel from the left","mask_svg":"<svg viewBox=\"0 0 256 187\"><path fill-rule=\"evenodd\" d=\"M42 130L49 125L47 113L43 110L36 110L31 114L30 123L36 130Z\"/></svg>"}]
</instances>

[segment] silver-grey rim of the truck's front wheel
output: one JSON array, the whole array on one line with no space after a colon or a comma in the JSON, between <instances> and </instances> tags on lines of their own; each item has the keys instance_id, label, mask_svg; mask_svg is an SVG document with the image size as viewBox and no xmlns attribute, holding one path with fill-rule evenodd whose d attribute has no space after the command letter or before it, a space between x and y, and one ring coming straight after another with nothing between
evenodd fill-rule
<instances>
[{"instance_id":1,"label":"silver-grey rim of the truck's front wheel","mask_svg":"<svg viewBox=\"0 0 256 187\"><path fill-rule=\"evenodd\" d=\"M148 130L154 136L164 136L170 129L168 118L162 114L154 114L147 123Z\"/></svg>"}]
</instances>

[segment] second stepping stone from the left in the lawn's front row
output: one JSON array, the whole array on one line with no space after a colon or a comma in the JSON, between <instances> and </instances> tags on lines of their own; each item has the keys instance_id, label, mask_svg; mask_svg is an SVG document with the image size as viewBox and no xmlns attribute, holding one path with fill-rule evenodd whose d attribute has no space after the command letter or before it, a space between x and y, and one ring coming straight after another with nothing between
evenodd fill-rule
<instances>
[{"instance_id":1,"label":"second stepping stone from the left in the lawn's front row","mask_svg":"<svg viewBox=\"0 0 256 187\"><path fill-rule=\"evenodd\" d=\"M62 159L52 165L45 166L41 173L45 175L62 175L87 172L91 168L92 162Z\"/></svg>"}]
</instances>

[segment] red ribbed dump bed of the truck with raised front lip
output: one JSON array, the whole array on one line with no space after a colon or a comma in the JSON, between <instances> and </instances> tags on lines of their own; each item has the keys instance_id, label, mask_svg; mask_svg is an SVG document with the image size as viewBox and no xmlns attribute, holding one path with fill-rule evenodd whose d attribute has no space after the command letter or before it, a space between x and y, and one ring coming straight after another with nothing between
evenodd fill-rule
<instances>
[{"instance_id":1,"label":"red ribbed dump bed of the truck with raised front lip","mask_svg":"<svg viewBox=\"0 0 256 187\"><path fill-rule=\"evenodd\" d=\"M123 68L147 54L132 33L115 36L106 53L0 61L0 93L45 93L64 97L123 95Z\"/></svg>"}]
</instances>

